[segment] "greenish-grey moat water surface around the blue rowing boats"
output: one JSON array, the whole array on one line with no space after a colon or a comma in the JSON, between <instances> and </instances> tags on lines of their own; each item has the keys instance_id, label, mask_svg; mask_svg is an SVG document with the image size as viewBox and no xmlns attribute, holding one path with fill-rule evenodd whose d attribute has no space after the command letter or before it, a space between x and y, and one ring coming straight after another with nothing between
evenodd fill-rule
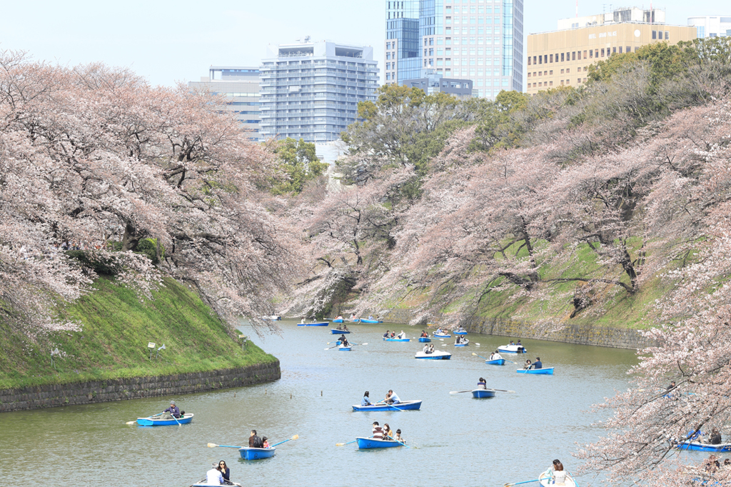
<instances>
[{"instance_id":1,"label":"greenish-grey moat water surface around the blue rowing boats","mask_svg":"<svg viewBox=\"0 0 731 487\"><path fill-rule=\"evenodd\" d=\"M624 390L626 370L636 363L630 350L523 340L529 353L506 358L522 363L539 356L544 366L556 367L556 374L516 374L512 363L487 366L471 355L487 356L507 343L499 336L471 333L469 347L454 347L453 339L446 339L436 346L452 352L452 360L414 360L420 344L382 341L393 325L349 325L351 341L368 343L352 352L324 350L336 339L329 328L295 322L282 327L281 337L254 337L281 361L277 382L0 415L0 485L23 479L58 487L99 482L182 487L205 477L211 462L224 459L233 480L262 486L502 486L536 478L553 458L574 469L575 442L602 433L591 426L600 419L588 412L591 404ZM409 336L420 332L397 327ZM450 395L450 390L476 387L480 377L490 388L515 393L492 399ZM371 399L382 399L390 388L402 400L423 400L422 409L352 412L365 390ZM195 414L192 424L124 424L161 412L169 399ZM369 436L374 421L401 429L412 448L336 446ZM247 444L251 429L270 443L295 434L299 439L277 447L273 458L253 462L240 460L235 449L206 446ZM580 484L590 482L586 478Z\"/></svg>"}]
</instances>

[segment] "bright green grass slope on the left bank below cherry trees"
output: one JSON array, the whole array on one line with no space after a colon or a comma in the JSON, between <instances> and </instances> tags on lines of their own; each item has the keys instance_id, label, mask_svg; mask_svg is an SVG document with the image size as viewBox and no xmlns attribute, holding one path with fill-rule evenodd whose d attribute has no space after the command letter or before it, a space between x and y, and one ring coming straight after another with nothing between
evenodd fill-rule
<instances>
[{"instance_id":1,"label":"bright green grass slope on the left bank below cherry trees","mask_svg":"<svg viewBox=\"0 0 731 487\"><path fill-rule=\"evenodd\" d=\"M54 331L31 341L0 322L0 389L86 380L183 374L232 369L276 360L252 343L241 345L195 292L164 279L154 299L140 302L135 291L99 279L94 292L62 311L81 322L81 331ZM159 358L148 342L165 345ZM58 347L64 356L53 358Z\"/></svg>"}]
</instances>

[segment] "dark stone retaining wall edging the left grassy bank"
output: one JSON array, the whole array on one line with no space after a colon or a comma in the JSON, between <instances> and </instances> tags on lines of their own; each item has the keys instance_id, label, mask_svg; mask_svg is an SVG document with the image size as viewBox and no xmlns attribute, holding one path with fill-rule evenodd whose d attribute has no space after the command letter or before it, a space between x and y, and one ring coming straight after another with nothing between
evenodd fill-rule
<instances>
[{"instance_id":1,"label":"dark stone retaining wall edging the left grassy bank","mask_svg":"<svg viewBox=\"0 0 731 487\"><path fill-rule=\"evenodd\" d=\"M0 412L236 388L281 377L279 360L239 369L0 390Z\"/></svg>"}]
</instances>

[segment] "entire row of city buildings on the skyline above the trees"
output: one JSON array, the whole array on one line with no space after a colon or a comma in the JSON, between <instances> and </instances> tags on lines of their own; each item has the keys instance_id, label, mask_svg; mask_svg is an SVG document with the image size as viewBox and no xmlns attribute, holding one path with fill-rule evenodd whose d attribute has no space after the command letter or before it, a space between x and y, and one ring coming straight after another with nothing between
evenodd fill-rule
<instances>
[{"instance_id":1,"label":"entire row of city buildings on the skyline above the trees","mask_svg":"<svg viewBox=\"0 0 731 487\"><path fill-rule=\"evenodd\" d=\"M459 98L580 86L589 65L618 53L731 36L731 17L670 26L663 10L631 7L558 20L524 46L523 0L386 1L385 14L384 82ZM189 84L224 96L254 140L303 138L327 152L356 120L358 102L375 99L379 67L371 47L306 37L269 46L260 66L211 67Z\"/></svg>"}]
</instances>

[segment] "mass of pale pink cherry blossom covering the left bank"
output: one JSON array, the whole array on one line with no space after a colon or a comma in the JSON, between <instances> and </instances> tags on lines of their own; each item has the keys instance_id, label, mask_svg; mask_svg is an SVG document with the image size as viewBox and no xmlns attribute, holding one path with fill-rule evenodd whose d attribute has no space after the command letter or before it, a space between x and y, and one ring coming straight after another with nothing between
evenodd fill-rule
<instances>
[{"instance_id":1,"label":"mass of pale pink cherry blossom covering the left bank","mask_svg":"<svg viewBox=\"0 0 731 487\"><path fill-rule=\"evenodd\" d=\"M298 269L299 241L255 189L271 157L215 106L124 69L1 53L4 317L49 325L51 298L88 289L96 273L58 252L67 247L113 263L143 295L170 273L230 325L270 314ZM145 238L165 249L159 268L134 252Z\"/></svg>"}]
</instances>

